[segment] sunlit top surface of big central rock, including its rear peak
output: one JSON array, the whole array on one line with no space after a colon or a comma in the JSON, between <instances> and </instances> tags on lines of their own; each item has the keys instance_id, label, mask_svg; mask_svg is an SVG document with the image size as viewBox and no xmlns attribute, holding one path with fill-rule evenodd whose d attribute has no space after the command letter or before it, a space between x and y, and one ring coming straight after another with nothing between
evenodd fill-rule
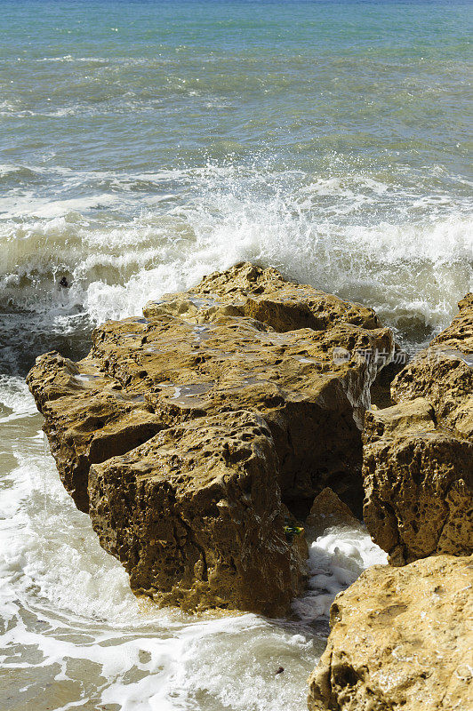
<instances>
[{"instance_id":1,"label":"sunlit top surface of big central rock, including its rear peak","mask_svg":"<svg viewBox=\"0 0 473 711\"><path fill-rule=\"evenodd\" d=\"M144 313L100 326L91 357L153 408L218 411L231 400L233 409L258 402L264 412L288 400L324 399L336 378L357 406L352 374L367 369L359 353L393 349L373 309L251 264L206 276Z\"/></svg>"}]
</instances>

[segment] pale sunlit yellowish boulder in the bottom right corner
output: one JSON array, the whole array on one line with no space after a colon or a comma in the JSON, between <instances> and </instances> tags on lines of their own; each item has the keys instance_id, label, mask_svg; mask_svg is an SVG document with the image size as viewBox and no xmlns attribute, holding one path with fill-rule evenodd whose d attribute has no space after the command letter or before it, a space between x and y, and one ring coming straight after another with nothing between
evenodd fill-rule
<instances>
[{"instance_id":1,"label":"pale sunlit yellowish boulder in the bottom right corner","mask_svg":"<svg viewBox=\"0 0 473 711\"><path fill-rule=\"evenodd\" d=\"M473 707L473 563L437 555L376 565L337 595L310 711Z\"/></svg>"}]
</instances>

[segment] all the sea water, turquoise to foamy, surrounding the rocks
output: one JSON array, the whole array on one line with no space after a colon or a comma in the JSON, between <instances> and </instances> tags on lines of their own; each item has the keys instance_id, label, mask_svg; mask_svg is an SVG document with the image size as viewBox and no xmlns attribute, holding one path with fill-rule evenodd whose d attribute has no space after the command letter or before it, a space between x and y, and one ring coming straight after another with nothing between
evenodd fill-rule
<instances>
[{"instance_id":1,"label":"all the sea water, turquoise to foamy, surrounding the rocks","mask_svg":"<svg viewBox=\"0 0 473 711\"><path fill-rule=\"evenodd\" d=\"M472 16L0 0L4 711L305 707L333 595L385 562L363 527L313 543L292 619L142 609L62 489L24 375L238 260L362 301L420 348L473 288Z\"/></svg>"}]
</instances>

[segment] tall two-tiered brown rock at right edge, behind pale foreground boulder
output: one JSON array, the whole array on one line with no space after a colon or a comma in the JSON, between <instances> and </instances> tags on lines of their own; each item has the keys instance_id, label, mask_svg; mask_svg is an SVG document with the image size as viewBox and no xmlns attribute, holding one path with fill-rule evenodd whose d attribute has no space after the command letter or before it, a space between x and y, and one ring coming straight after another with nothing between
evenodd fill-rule
<instances>
[{"instance_id":1,"label":"tall two-tiered brown rock at right edge, behind pale foreground boulder","mask_svg":"<svg viewBox=\"0 0 473 711\"><path fill-rule=\"evenodd\" d=\"M473 295L366 413L365 523L397 565L473 552Z\"/></svg>"}]
</instances>

